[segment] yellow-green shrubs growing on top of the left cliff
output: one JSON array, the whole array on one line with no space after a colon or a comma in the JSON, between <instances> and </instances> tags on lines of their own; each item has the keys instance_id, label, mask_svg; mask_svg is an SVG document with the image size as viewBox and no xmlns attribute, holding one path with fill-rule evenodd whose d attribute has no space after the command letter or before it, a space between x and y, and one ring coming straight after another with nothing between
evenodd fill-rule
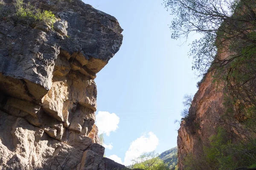
<instances>
[{"instance_id":1,"label":"yellow-green shrubs growing on top of the left cliff","mask_svg":"<svg viewBox=\"0 0 256 170\"><path fill-rule=\"evenodd\" d=\"M15 3L16 16L19 19L28 19L31 18L35 21L44 21L49 26L53 27L53 24L56 22L57 18L52 11L44 10L41 12L40 9L35 9L30 3L25 4L23 0L16 0Z\"/></svg>"}]
</instances>

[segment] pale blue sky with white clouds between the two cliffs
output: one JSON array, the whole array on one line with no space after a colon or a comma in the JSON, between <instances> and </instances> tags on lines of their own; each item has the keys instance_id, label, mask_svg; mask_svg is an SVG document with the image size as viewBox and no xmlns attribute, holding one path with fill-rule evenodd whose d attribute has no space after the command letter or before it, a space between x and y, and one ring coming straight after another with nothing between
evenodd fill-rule
<instances>
[{"instance_id":1,"label":"pale blue sky with white clouds between the two cliffs","mask_svg":"<svg viewBox=\"0 0 256 170\"><path fill-rule=\"evenodd\" d=\"M175 147L183 96L195 94L199 81L187 56L191 40L171 39L172 16L163 0L83 1L124 29L119 52L95 79L105 155L128 165L142 152Z\"/></svg>"}]
</instances>

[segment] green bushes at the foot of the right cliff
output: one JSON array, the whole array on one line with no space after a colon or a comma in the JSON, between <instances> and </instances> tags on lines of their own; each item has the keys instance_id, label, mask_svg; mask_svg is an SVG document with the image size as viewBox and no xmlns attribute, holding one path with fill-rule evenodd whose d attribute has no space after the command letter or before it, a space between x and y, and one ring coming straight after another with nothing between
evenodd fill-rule
<instances>
[{"instance_id":1,"label":"green bushes at the foot of the right cliff","mask_svg":"<svg viewBox=\"0 0 256 170\"><path fill-rule=\"evenodd\" d=\"M218 133L210 137L210 145L204 146L204 152L195 158L185 158L185 170L234 170L239 167L252 167L256 159L250 153L255 151L256 142L232 143L226 130L218 127Z\"/></svg>"}]
</instances>

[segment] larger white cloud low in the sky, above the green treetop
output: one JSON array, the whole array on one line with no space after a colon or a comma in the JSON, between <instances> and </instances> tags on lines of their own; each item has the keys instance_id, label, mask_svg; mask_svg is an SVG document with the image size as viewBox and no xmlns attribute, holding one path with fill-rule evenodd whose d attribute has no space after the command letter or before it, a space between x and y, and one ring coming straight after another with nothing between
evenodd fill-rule
<instances>
[{"instance_id":1,"label":"larger white cloud low in the sky, above the green treetop","mask_svg":"<svg viewBox=\"0 0 256 170\"><path fill-rule=\"evenodd\" d=\"M153 132L149 132L148 136L143 135L131 142L129 149L125 153L125 166L132 164L131 160L140 156L144 152L151 152L156 149L159 144L157 136Z\"/></svg>"}]
</instances>

